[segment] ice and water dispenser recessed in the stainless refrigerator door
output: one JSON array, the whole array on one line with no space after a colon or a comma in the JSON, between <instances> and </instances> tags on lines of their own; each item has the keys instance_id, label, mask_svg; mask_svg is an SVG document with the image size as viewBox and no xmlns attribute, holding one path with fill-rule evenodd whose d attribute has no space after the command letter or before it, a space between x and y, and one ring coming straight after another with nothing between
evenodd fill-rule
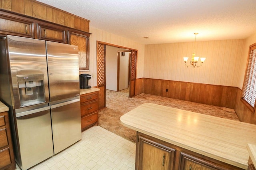
<instances>
[{"instance_id":1,"label":"ice and water dispenser recessed in the stainless refrigerator door","mask_svg":"<svg viewBox=\"0 0 256 170\"><path fill-rule=\"evenodd\" d=\"M45 102L44 74L17 75L20 107Z\"/></svg>"}]
</instances>

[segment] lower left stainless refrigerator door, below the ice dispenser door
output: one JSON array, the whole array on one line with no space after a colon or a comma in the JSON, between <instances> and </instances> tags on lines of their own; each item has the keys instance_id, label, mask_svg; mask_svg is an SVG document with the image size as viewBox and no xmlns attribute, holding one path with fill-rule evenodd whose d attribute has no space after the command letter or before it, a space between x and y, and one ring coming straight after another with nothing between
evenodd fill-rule
<instances>
[{"instance_id":1,"label":"lower left stainless refrigerator door, below the ice dispenser door","mask_svg":"<svg viewBox=\"0 0 256 170\"><path fill-rule=\"evenodd\" d=\"M20 159L18 165L26 170L53 156L50 107L17 114Z\"/></svg>"}]
</instances>

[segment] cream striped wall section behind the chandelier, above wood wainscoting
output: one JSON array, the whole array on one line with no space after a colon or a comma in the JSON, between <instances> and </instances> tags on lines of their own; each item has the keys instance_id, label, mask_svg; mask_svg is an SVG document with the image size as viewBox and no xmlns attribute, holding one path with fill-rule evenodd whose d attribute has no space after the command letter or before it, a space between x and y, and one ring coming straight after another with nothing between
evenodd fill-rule
<instances>
[{"instance_id":1,"label":"cream striped wall section behind the chandelier, above wood wainscoting","mask_svg":"<svg viewBox=\"0 0 256 170\"><path fill-rule=\"evenodd\" d=\"M144 77L237 86L244 39L145 45ZM199 68L186 67L183 57L206 57ZM189 62L188 62L189 63Z\"/></svg>"}]
</instances>

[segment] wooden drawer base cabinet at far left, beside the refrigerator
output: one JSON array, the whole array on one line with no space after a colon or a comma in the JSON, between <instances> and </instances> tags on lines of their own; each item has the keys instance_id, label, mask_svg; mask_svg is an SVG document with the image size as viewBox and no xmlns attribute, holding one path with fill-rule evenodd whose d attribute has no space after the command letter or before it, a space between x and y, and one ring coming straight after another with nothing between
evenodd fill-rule
<instances>
[{"instance_id":1,"label":"wooden drawer base cabinet at far left, beside the refrigerator","mask_svg":"<svg viewBox=\"0 0 256 170\"><path fill-rule=\"evenodd\" d=\"M0 170L15 170L8 112L0 113Z\"/></svg>"}]
</instances>

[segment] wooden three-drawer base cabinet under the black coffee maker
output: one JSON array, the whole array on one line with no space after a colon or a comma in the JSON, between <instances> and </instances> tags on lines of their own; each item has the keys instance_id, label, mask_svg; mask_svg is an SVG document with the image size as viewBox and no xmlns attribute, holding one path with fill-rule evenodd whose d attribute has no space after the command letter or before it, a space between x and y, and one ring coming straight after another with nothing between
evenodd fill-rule
<instances>
[{"instance_id":1,"label":"wooden three-drawer base cabinet under the black coffee maker","mask_svg":"<svg viewBox=\"0 0 256 170\"><path fill-rule=\"evenodd\" d=\"M98 125L98 91L80 95L82 131Z\"/></svg>"}]
</instances>

